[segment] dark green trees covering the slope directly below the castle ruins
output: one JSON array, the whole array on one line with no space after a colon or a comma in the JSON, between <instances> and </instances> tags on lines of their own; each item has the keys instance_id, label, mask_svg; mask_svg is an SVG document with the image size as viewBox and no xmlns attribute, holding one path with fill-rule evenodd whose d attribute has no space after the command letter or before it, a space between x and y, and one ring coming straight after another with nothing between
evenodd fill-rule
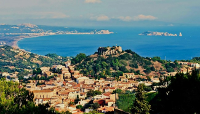
<instances>
[{"instance_id":1,"label":"dark green trees covering the slope directly below the castle ruins","mask_svg":"<svg viewBox=\"0 0 200 114\"><path fill-rule=\"evenodd\" d=\"M81 62L80 62L81 61ZM107 57L90 57L84 54L77 55L72 59L73 64L76 65L77 70L81 70L86 76L93 76L95 78L106 77L119 77L123 73L135 73L140 74L140 71L135 71L139 66L146 69L144 72L150 73L155 71L150 60L139 56L131 50L126 50L119 56L107 56ZM130 67L127 69L127 67Z\"/></svg>"}]
</instances>

